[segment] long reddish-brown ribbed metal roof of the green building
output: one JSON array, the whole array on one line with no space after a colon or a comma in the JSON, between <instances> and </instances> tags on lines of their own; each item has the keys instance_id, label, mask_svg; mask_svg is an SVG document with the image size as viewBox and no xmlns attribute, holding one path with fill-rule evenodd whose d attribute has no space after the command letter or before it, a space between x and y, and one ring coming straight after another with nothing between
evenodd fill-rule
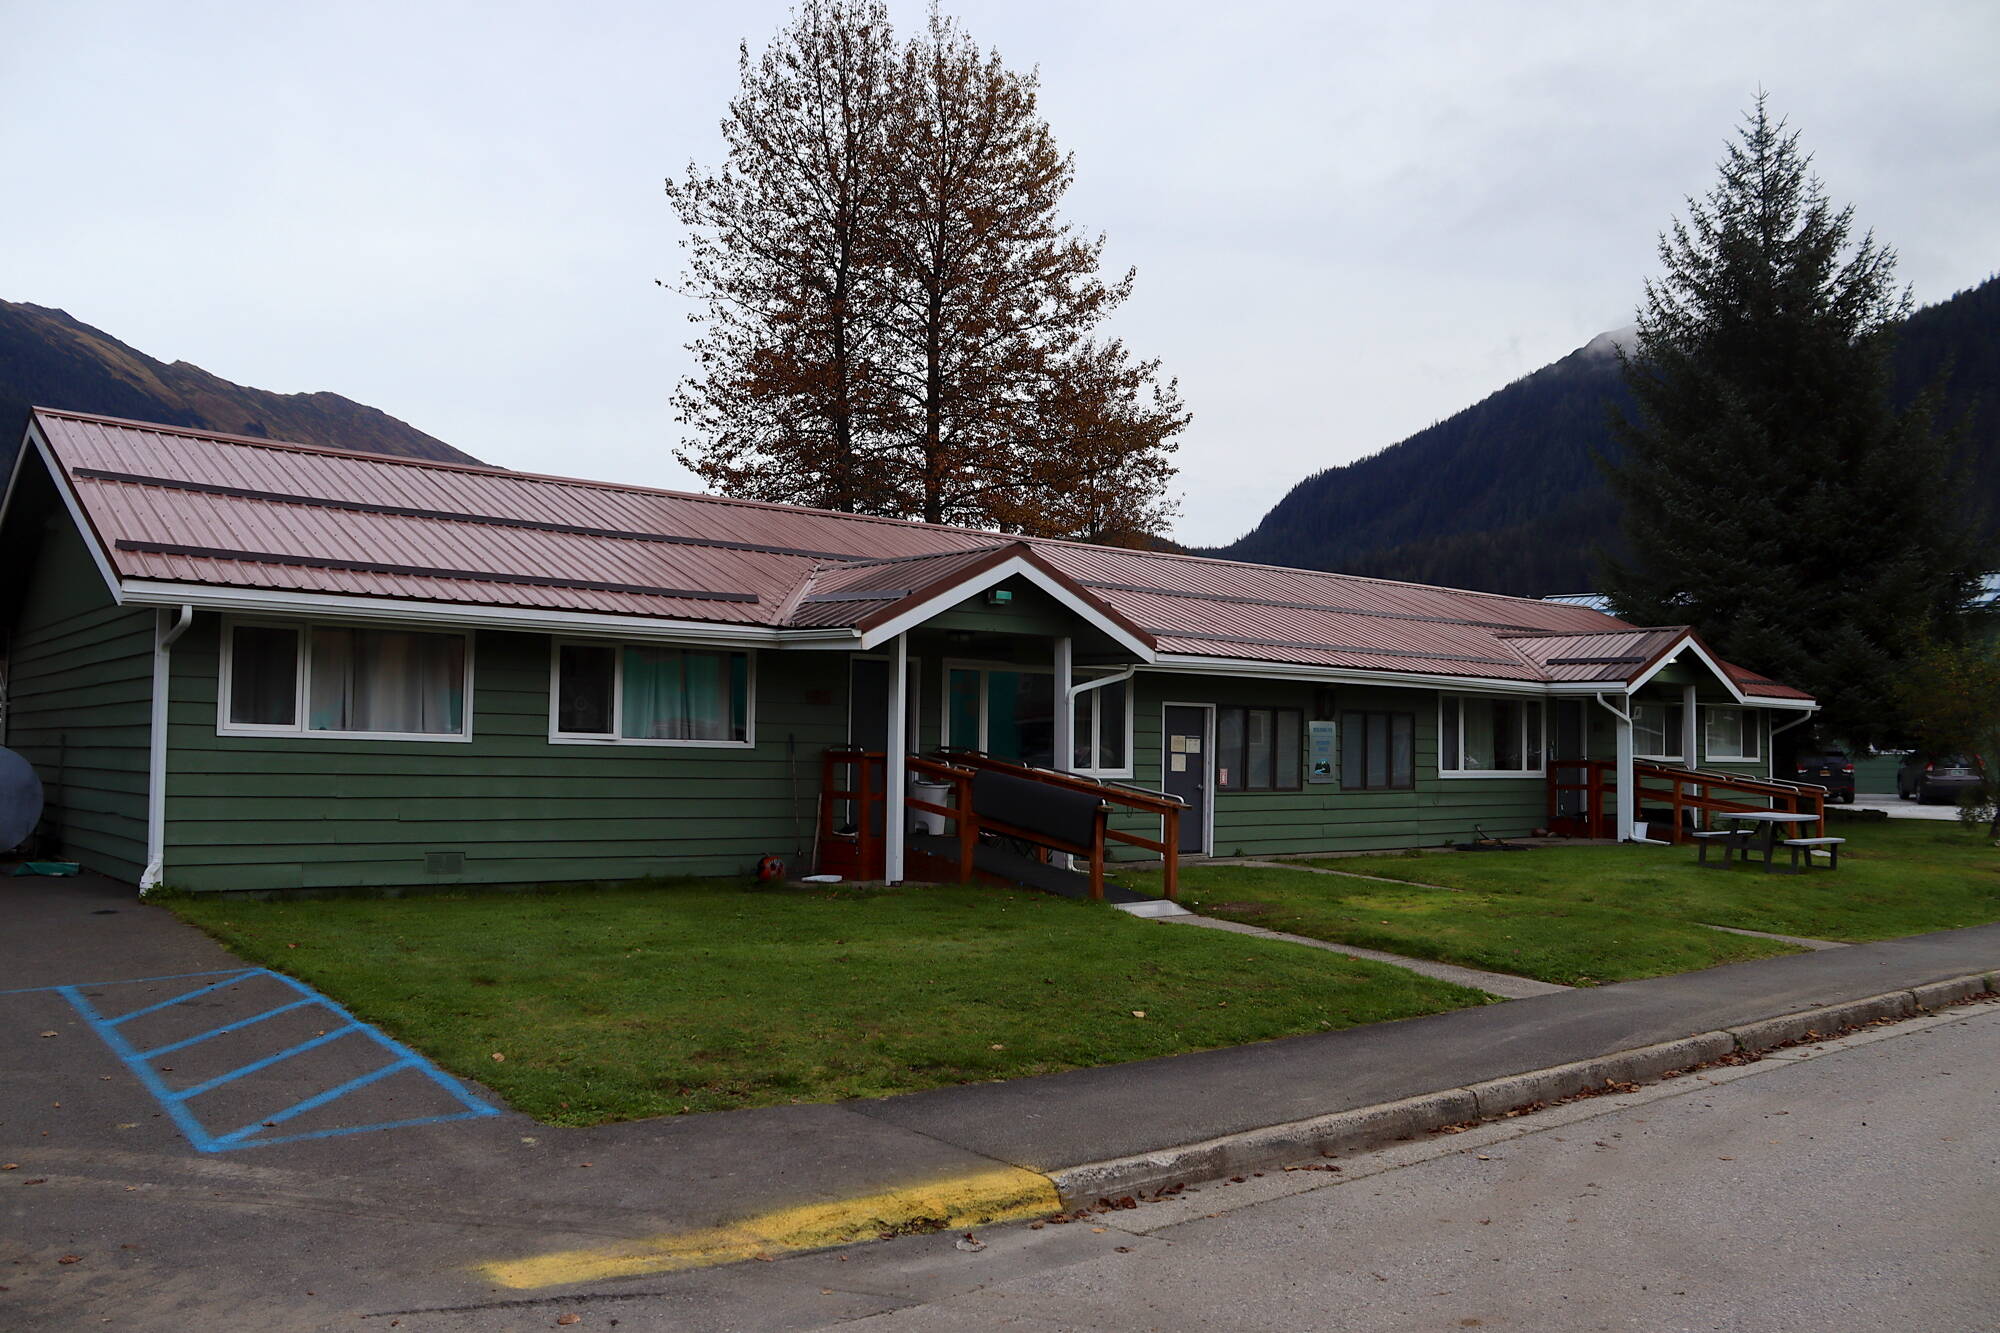
<instances>
[{"instance_id":1,"label":"long reddish-brown ribbed metal roof of the green building","mask_svg":"<svg viewBox=\"0 0 2000 1333\"><path fill-rule=\"evenodd\" d=\"M36 408L122 578L766 628L880 624L1024 554L1160 652L1620 681L1684 630L1590 606L390 458ZM1740 689L1798 691L1730 669Z\"/></svg>"}]
</instances>

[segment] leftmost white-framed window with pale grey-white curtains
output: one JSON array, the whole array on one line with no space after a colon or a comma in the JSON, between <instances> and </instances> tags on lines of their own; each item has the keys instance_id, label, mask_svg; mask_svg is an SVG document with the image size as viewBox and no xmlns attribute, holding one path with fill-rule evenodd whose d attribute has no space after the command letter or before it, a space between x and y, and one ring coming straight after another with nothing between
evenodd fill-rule
<instances>
[{"instance_id":1,"label":"leftmost white-framed window with pale grey-white curtains","mask_svg":"<svg viewBox=\"0 0 2000 1333\"><path fill-rule=\"evenodd\" d=\"M232 622L226 644L222 731L470 735L466 634Z\"/></svg>"}]
</instances>

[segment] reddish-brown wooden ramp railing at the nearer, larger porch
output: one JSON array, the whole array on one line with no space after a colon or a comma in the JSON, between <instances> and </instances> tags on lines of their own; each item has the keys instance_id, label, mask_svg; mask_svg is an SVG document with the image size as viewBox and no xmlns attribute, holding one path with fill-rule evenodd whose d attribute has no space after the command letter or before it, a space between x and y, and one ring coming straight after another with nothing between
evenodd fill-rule
<instances>
[{"instance_id":1,"label":"reddish-brown wooden ramp railing at the nearer, larger porch","mask_svg":"<svg viewBox=\"0 0 2000 1333\"><path fill-rule=\"evenodd\" d=\"M942 815L956 833L958 883L974 877L982 833L1018 839L1048 851L1084 857L1090 865L1090 897L1104 899L1104 865L1112 843L1160 855L1168 899L1180 897L1180 817L1188 809L1178 797L1140 787L1100 783L1030 769L992 759L980 751L938 751L912 755L910 773L950 787L950 805L910 793L906 807ZM888 757L880 751L826 751L820 763L818 869L822 875L880 879L884 873L882 821L888 809ZM984 777L982 775L992 775ZM1046 793L1038 799L1036 791ZM1160 819L1160 837L1112 827L1120 809Z\"/></svg>"}]
</instances>

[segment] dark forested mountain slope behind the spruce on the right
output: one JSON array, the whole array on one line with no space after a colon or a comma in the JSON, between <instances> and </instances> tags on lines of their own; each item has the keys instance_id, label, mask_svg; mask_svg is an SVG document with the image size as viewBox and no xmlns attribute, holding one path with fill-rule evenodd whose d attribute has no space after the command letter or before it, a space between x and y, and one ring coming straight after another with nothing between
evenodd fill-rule
<instances>
[{"instance_id":1,"label":"dark forested mountain slope behind the spruce on the right","mask_svg":"<svg viewBox=\"0 0 2000 1333\"><path fill-rule=\"evenodd\" d=\"M1628 396L1604 334L1378 454L1298 482L1236 542L1234 560L1336 568L1542 596L1592 588L1618 510L1594 454L1616 456ZM1968 480L2000 516L2000 278L1904 324L1896 392L1940 374L1942 414L1968 422Z\"/></svg>"}]
</instances>

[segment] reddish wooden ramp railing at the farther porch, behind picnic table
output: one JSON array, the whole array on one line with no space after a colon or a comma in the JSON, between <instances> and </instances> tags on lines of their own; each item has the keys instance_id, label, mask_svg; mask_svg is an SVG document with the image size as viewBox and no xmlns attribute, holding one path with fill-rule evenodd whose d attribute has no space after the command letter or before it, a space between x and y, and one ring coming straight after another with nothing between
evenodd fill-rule
<instances>
[{"instance_id":1,"label":"reddish wooden ramp railing at the farther porch, behind picnic table","mask_svg":"<svg viewBox=\"0 0 2000 1333\"><path fill-rule=\"evenodd\" d=\"M1818 821L1818 837L1826 837L1826 789L1812 783L1758 779L1712 769L1676 769L1644 759L1632 761L1632 783L1634 811L1668 811L1664 831L1646 829L1648 837L1660 837L1666 843L1686 839L1688 811L1812 815ZM1578 805L1564 801L1564 793L1578 793L1582 809L1564 809ZM1618 837L1618 765L1608 759L1548 761L1548 827L1586 839Z\"/></svg>"}]
</instances>

